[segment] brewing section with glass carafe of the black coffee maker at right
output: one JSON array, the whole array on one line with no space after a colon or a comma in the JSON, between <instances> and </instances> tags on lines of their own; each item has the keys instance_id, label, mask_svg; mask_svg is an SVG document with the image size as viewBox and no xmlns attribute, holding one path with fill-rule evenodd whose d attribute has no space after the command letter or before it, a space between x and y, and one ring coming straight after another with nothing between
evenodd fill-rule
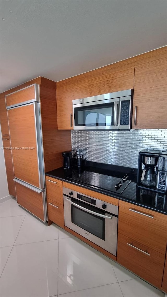
<instances>
[{"instance_id":1,"label":"brewing section with glass carafe of the black coffee maker at right","mask_svg":"<svg viewBox=\"0 0 167 297\"><path fill-rule=\"evenodd\" d=\"M137 185L147 188L156 187L158 154L155 151L140 151L138 155ZM144 165L144 169L142 169Z\"/></svg>"}]
</instances>

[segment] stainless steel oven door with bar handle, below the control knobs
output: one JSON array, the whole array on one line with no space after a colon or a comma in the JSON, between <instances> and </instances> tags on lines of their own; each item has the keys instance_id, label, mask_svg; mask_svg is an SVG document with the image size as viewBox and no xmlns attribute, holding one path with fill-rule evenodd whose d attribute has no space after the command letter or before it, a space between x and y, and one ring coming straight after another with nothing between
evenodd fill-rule
<instances>
[{"instance_id":1,"label":"stainless steel oven door with bar handle, below the control knobs","mask_svg":"<svg viewBox=\"0 0 167 297\"><path fill-rule=\"evenodd\" d=\"M116 256L118 218L105 211L64 197L64 224Z\"/></svg>"}]
</instances>

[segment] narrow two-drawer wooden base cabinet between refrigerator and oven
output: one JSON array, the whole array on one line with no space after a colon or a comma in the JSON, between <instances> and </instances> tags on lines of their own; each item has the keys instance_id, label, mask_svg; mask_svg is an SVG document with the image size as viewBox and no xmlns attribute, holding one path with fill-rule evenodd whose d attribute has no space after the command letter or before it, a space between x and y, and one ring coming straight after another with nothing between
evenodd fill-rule
<instances>
[{"instance_id":1,"label":"narrow two-drawer wooden base cabinet between refrigerator and oven","mask_svg":"<svg viewBox=\"0 0 167 297\"><path fill-rule=\"evenodd\" d=\"M48 222L64 228L63 182L46 176Z\"/></svg>"}]
</instances>

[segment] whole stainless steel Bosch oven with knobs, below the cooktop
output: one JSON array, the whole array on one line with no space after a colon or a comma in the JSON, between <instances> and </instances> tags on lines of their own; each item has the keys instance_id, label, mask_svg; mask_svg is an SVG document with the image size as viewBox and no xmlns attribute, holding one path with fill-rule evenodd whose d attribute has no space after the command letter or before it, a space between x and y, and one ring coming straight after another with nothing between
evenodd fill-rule
<instances>
[{"instance_id":1,"label":"whole stainless steel Bosch oven with knobs, below the cooktop","mask_svg":"<svg viewBox=\"0 0 167 297\"><path fill-rule=\"evenodd\" d=\"M116 256L118 206L63 187L64 224Z\"/></svg>"}]
</instances>

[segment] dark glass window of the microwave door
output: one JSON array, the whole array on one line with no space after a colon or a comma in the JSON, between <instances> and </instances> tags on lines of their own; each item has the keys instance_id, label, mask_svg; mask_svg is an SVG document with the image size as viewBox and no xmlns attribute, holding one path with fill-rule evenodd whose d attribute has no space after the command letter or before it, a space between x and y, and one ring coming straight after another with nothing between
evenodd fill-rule
<instances>
[{"instance_id":1,"label":"dark glass window of the microwave door","mask_svg":"<svg viewBox=\"0 0 167 297\"><path fill-rule=\"evenodd\" d=\"M114 103L98 104L86 107L75 107L75 126L113 126Z\"/></svg>"}]
</instances>

